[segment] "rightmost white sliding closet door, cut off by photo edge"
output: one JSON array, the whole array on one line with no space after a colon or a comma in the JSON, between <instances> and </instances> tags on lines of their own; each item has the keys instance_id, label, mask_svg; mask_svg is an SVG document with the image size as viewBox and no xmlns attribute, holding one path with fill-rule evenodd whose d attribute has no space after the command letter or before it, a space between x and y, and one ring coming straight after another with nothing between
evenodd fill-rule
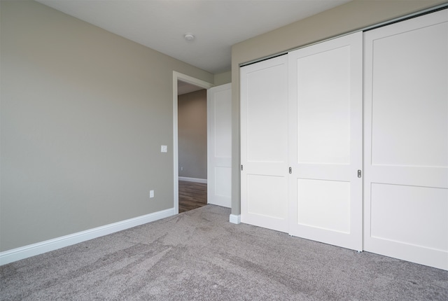
<instances>
[{"instance_id":1,"label":"rightmost white sliding closet door, cut off by photo edge","mask_svg":"<svg viewBox=\"0 0 448 301\"><path fill-rule=\"evenodd\" d=\"M364 248L448 269L448 10L365 33Z\"/></svg>"}]
</instances>

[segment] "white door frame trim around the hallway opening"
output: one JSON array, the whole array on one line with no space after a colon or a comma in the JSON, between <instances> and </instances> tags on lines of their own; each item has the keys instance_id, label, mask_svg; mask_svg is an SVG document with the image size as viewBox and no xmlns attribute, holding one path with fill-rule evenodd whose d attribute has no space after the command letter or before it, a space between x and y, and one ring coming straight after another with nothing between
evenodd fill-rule
<instances>
[{"instance_id":1,"label":"white door frame trim around the hallway opening","mask_svg":"<svg viewBox=\"0 0 448 301\"><path fill-rule=\"evenodd\" d=\"M181 80L209 90L214 85L207 81L173 71L173 172L174 172L174 214L179 214L179 132L178 132L178 95L177 81ZM208 143L208 142L207 142ZM208 165L207 160L207 165Z\"/></svg>"}]
</instances>

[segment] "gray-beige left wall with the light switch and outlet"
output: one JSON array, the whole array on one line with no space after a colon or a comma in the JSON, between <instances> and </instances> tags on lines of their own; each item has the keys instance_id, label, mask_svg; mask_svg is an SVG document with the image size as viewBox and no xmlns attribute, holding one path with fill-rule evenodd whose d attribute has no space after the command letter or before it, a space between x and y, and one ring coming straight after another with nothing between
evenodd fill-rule
<instances>
[{"instance_id":1,"label":"gray-beige left wall with the light switch and outlet","mask_svg":"<svg viewBox=\"0 0 448 301\"><path fill-rule=\"evenodd\" d=\"M34 1L0 42L0 251L174 207L173 71L213 74Z\"/></svg>"}]
</instances>

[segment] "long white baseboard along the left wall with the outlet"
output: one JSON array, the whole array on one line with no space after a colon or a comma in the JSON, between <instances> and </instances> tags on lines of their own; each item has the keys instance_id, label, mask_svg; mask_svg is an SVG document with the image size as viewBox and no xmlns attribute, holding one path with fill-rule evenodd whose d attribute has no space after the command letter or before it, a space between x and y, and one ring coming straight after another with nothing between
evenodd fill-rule
<instances>
[{"instance_id":1,"label":"long white baseboard along the left wall with the outlet","mask_svg":"<svg viewBox=\"0 0 448 301\"><path fill-rule=\"evenodd\" d=\"M29 244L28 246L22 246L20 248L13 248L12 250L0 253L0 265L6 265L10 262L29 258L31 256L39 255L45 252L54 251L58 248L64 248L65 246L78 244L89 239L102 237L104 235L109 235L114 232L126 230L138 225L157 221L161 218L174 216L174 214L174 208L166 209L154 212L153 214L146 214L145 216L138 216L137 218L130 218L125 221L111 223L109 225L104 225L98 228L73 233L71 235L65 235L63 237L41 241L36 244Z\"/></svg>"}]
</instances>

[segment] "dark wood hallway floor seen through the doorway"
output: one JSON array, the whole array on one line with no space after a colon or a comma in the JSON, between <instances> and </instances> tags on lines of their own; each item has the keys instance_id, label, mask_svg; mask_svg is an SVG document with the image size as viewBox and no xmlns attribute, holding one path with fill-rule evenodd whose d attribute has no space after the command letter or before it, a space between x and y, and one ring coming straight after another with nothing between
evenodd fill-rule
<instances>
[{"instance_id":1,"label":"dark wood hallway floor seen through the doorway","mask_svg":"<svg viewBox=\"0 0 448 301\"><path fill-rule=\"evenodd\" d=\"M179 214L207 205L207 183L179 181Z\"/></svg>"}]
</instances>

